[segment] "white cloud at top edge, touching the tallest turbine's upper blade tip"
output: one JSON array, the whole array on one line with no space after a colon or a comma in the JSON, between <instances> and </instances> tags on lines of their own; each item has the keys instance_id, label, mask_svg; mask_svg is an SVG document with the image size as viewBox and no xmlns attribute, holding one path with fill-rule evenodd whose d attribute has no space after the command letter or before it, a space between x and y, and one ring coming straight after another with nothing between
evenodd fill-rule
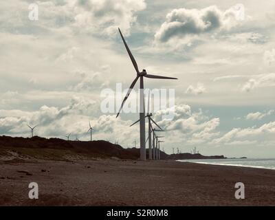
<instances>
[{"instance_id":1,"label":"white cloud at top edge, touching the tallest turbine's upper blade tip","mask_svg":"<svg viewBox=\"0 0 275 220\"><path fill-rule=\"evenodd\" d=\"M69 2L69 1L68 1ZM136 21L135 12L144 10L144 0L87 0L69 3L75 12L75 25L82 30L96 31L113 36L120 27L129 35L131 24Z\"/></svg>"}]
</instances>

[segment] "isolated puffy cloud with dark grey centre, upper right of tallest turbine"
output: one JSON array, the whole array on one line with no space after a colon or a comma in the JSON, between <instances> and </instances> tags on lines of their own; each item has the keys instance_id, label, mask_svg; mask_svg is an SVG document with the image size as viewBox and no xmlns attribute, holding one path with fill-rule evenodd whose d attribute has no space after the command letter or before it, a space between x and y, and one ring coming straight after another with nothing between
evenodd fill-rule
<instances>
[{"instance_id":1,"label":"isolated puffy cloud with dark grey centre, upper right of tallest turbine","mask_svg":"<svg viewBox=\"0 0 275 220\"><path fill-rule=\"evenodd\" d=\"M179 8L166 16L166 21L155 34L155 40L166 42L175 37L228 30L245 19L244 6L239 4L221 11L216 5L201 10Z\"/></svg>"}]
</instances>

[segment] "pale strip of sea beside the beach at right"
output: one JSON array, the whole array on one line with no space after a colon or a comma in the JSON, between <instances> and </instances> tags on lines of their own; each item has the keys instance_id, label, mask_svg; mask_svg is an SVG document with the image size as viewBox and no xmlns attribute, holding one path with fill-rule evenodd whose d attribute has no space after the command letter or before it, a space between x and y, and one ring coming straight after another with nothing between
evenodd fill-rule
<instances>
[{"instance_id":1,"label":"pale strip of sea beside the beach at right","mask_svg":"<svg viewBox=\"0 0 275 220\"><path fill-rule=\"evenodd\" d=\"M244 166L275 170L275 159L182 159L180 162L223 166Z\"/></svg>"}]
</instances>

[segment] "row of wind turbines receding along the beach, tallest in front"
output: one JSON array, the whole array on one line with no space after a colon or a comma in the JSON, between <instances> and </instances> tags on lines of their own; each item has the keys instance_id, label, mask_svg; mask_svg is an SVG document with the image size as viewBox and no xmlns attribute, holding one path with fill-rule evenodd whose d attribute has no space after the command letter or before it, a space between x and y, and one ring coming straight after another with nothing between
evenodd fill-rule
<instances>
[{"instance_id":1,"label":"row of wind turbines receding along the beach, tallest in front","mask_svg":"<svg viewBox=\"0 0 275 220\"><path fill-rule=\"evenodd\" d=\"M133 63L133 67L135 68L136 77L133 80L133 83L131 83L126 96L124 100L122 101L120 110L118 111L118 114L116 115L116 118L118 118L118 115L120 115L120 111L122 111L123 105L126 102L127 98L129 98L131 94L131 90L137 83L137 80L140 79L140 119L137 120L135 123L140 122L140 159L146 160L146 142L148 141L148 159L160 159L160 150L159 150L159 144L164 142L162 140L159 140L160 138L164 136L157 135L157 132L164 131L152 118L153 114L149 113L149 105L150 105L150 95L148 96L148 106L147 106L147 115L145 115L144 112L144 78L153 78L153 79L170 79L170 80L177 80L177 78L173 77L166 77L166 76L156 76L147 74L146 69L143 69L142 72L138 69L137 62L135 61L135 58L133 57L133 54L131 53L131 50L129 49L124 36L122 35L122 32L120 31L120 28L118 28L118 31L120 32L120 36L122 38L122 41L124 43L124 46L126 47L126 51L128 52L128 55L131 59L131 62ZM148 118L148 138L147 141L145 140L145 119ZM131 124L131 126L133 126ZM153 127L155 125L156 127ZM153 134L153 138L152 138Z\"/></svg>"}]
</instances>

